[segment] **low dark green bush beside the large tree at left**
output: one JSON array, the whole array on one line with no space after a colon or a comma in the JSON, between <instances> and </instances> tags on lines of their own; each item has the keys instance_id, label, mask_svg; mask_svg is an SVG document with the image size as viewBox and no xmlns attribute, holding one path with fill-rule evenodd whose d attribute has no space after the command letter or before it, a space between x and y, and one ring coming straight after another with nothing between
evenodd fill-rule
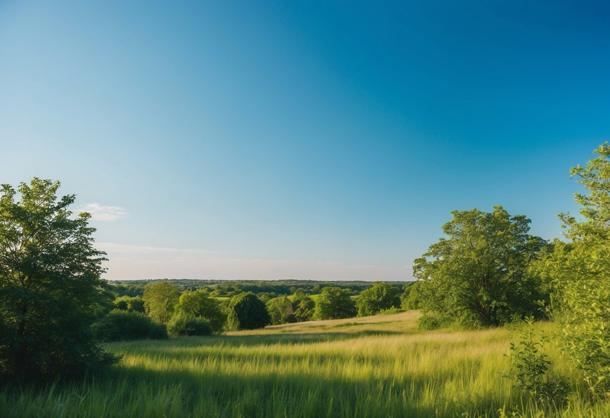
<instances>
[{"instance_id":1,"label":"low dark green bush beside the large tree at left","mask_svg":"<svg viewBox=\"0 0 610 418\"><path fill-rule=\"evenodd\" d=\"M167 339L167 328L156 324L143 313L115 309L93 327L101 341L133 339Z\"/></svg>"}]
</instances>

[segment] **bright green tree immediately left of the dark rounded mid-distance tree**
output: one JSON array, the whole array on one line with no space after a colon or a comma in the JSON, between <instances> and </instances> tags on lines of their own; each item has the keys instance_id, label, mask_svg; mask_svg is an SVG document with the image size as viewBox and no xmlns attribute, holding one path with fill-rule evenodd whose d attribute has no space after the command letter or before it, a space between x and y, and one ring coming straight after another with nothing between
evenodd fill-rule
<instances>
[{"instance_id":1,"label":"bright green tree immediately left of the dark rounded mid-distance tree","mask_svg":"<svg viewBox=\"0 0 610 418\"><path fill-rule=\"evenodd\" d=\"M221 310L220 302L203 289L183 293L176 305L176 314L202 319L213 333L220 333L226 322L226 314Z\"/></svg>"}]
</instances>

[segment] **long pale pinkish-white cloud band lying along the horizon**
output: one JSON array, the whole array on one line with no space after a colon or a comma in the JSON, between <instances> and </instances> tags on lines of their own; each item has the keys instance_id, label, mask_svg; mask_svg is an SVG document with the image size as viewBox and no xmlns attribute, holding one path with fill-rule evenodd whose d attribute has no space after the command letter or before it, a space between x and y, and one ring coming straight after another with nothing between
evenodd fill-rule
<instances>
[{"instance_id":1,"label":"long pale pinkish-white cloud band lying along the horizon","mask_svg":"<svg viewBox=\"0 0 610 418\"><path fill-rule=\"evenodd\" d=\"M223 257L223 252L96 243L107 252L106 278L410 280L411 266L376 266L338 261L264 260Z\"/></svg>"}]
</instances>

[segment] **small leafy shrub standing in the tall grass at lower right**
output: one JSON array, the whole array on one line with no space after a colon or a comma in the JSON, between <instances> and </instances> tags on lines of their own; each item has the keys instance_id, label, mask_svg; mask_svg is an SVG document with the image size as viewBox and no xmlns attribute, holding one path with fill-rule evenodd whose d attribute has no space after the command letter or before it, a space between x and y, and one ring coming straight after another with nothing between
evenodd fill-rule
<instances>
[{"instance_id":1,"label":"small leafy shrub standing in the tall grass at lower right","mask_svg":"<svg viewBox=\"0 0 610 418\"><path fill-rule=\"evenodd\" d=\"M548 335L534 331L534 317L523 321L523 330L518 342L511 342L507 377L515 388L538 402L562 403L569 392L565 379L551 372L551 362L544 353Z\"/></svg>"}]
</instances>

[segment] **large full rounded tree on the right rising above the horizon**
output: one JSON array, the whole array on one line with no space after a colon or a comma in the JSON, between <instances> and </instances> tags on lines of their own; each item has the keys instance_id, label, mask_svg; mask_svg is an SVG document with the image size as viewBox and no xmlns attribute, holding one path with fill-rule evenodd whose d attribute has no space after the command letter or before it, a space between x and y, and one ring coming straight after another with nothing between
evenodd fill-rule
<instances>
[{"instance_id":1,"label":"large full rounded tree on the right rising above the horizon","mask_svg":"<svg viewBox=\"0 0 610 418\"><path fill-rule=\"evenodd\" d=\"M414 276L423 280L418 290L425 316L476 327L539 315L535 301L548 296L528 266L546 242L528 234L530 220L510 216L501 206L492 213L451 213L453 219L443 225L448 238L414 262Z\"/></svg>"}]
</instances>

